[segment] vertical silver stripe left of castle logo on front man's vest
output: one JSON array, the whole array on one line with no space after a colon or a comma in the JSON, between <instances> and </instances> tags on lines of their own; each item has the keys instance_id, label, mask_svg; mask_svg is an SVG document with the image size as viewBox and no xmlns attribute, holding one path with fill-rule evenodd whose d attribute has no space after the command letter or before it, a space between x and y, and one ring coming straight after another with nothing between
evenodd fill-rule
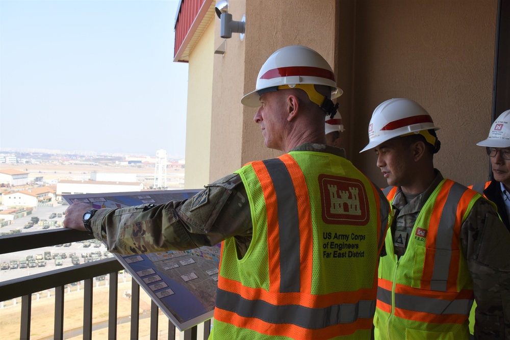
<instances>
[{"instance_id":1,"label":"vertical silver stripe left of castle logo on front man's vest","mask_svg":"<svg viewBox=\"0 0 510 340\"><path fill-rule=\"evenodd\" d=\"M285 164L279 159L263 161L276 194L278 232L280 293L300 292L300 235L296 192ZM273 228L274 226L268 226Z\"/></svg>"}]
</instances>

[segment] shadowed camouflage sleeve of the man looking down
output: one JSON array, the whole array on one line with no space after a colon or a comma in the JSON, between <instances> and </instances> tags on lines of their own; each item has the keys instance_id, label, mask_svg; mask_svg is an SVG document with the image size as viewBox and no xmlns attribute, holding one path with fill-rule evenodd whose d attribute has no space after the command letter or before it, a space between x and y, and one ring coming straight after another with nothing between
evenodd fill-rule
<instances>
[{"instance_id":1,"label":"shadowed camouflage sleeve of the man looking down","mask_svg":"<svg viewBox=\"0 0 510 340\"><path fill-rule=\"evenodd\" d=\"M510 232L485 199L461 227L462 250L473 278L476 339L510 339Z\"/></svg>"}]
</instances>

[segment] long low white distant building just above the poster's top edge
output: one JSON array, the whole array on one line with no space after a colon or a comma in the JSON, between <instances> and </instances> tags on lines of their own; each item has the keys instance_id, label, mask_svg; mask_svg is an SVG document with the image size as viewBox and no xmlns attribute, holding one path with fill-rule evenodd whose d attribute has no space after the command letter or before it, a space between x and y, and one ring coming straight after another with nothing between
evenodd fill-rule
<instances>
[{"instance_id":1,"label":"long low white distant building just above the poster's top edge","mask_svg":"<svg viewBox=\"0 0 510 340\"><path fill-rule=\"evenodd\" d=\"M57 199L65 194L97 194L111 192L142 191L139 182L116 182L98 180L59 180L57 183Z\"/></svg>"}]
</instances>

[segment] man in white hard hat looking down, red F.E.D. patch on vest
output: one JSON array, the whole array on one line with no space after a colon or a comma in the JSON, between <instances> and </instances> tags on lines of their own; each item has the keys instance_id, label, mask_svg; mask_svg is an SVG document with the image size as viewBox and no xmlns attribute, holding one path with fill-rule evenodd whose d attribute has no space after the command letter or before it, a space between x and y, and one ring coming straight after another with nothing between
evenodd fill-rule
<instances>
[{"instance_id":1,"label":"man in white hard hat looking down, red F.E.D. patch on vest","mask_svg":"<svg viewBox=\"0 0 510 340\"><path fill-rule=\"evenodd\" d=\"M369 144L394 212L379 264L376 339L509 338L510 233L494 204L434 168L428 112L406 98L379 104Z\"/></svg>"}]
</instances>

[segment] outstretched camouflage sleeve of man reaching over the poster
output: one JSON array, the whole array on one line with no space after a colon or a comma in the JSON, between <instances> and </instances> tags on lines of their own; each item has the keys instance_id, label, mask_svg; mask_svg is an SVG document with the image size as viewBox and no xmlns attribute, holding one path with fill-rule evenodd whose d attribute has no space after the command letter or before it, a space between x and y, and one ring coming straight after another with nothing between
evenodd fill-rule
<instances>
[{"instance_id":1,"label":"outstretched camouflage sleeve of man reaching over the poster","mask_svg":"<svg viewBox=\"0 0 510 340\"><path fill-rule=\"evenodd\" d=\"M235 174L206 186L189 200L101 209L91 226L94 237L118 254L193 249L228 237L249 244L252 231L246 191Z\"/></svg>"}]
</instances>

